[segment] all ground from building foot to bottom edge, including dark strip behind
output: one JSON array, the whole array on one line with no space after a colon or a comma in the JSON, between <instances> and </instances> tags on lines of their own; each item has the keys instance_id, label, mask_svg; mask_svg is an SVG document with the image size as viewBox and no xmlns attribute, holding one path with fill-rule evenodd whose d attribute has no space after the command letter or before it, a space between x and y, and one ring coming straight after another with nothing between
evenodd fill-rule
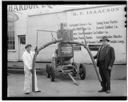
<instances>
[{"instance_id":1,"label":"all ground from building foot to bottom edge, including dark strip behind","mask_svg":"<svg viewBox=\"0 0 128 102\"><path fill-rule=\"evenodd\" d=\"M25 95L23 92L24 75L23 75L23 63L22 62L8 62L8 97L47 97L47 96L77 96L77 97L111 97L111 96L126 96L127 95L127 66L126 65L114 65L111 73L111 94L98 93L101 89L100 83L97 80L96 72L92 64L86 65L86 78L80 80L79 76L76 77L76 81L79 83L79 87L74 85L72 80L67 76L64 77L62 73L56 73L55 82L51 82L46 77L46 64L36 63L38 74L38 86L42 90L41 93L31 93ZM14 74L15 73L15 74ZM21 74L20 74L21 73ZM17 87L18 86L18 87Z\"/></svg>"}]
</instances>

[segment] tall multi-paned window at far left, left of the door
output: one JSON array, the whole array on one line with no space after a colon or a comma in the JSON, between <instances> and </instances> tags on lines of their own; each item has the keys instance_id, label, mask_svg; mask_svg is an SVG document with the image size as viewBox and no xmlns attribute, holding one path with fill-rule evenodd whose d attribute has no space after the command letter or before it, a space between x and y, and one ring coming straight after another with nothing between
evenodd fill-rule
<instances>
[{"instance_id":1,"label":"tall multi-paned window at far left, left of the door","mask_svg":"<svg viewBox=\"0 0 128 102\"><path fill-rule=\"evenodd\" d=\"M14 22L8 22L8 49L15 49L15 31Z\"/></svg>"}]
</instances>

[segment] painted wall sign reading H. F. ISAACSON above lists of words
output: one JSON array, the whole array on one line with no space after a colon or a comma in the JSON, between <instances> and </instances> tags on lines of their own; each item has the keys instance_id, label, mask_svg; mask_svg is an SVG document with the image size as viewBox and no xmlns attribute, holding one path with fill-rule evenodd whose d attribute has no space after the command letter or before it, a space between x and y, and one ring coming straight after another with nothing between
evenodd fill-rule
<instances>
[{"instance_id":1,"label":"painted wall sign reading H. F. ISAACSON above lists of words","mask_svg":"<svg viewBox=\"0 0 128 102\"><path fill-rule=\"evenodd\" d=\"M125 43L124 6L77 10L67 13L68 26L73 29L75 41L84 42L83 29L88 43L99 43L106 35L111 43Z\"/></svg>"}]
</instances>

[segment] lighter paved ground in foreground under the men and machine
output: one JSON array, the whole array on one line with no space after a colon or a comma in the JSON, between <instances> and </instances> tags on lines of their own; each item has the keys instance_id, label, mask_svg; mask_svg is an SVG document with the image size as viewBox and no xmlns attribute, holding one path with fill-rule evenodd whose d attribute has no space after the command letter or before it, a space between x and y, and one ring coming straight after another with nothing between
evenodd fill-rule
<instances>
[{"instance_id":1,"label":"lighter paved ground in foreground under the men and machine","mask_svg":"<svg viewBox=\"0 0 128 102\"><path fill-rule=\"evenodd\" d=\"M51 82L46 75L38 75L38 86L42 90L41 93L31 93L24 95L24 75L9 74L8 75L8 97L47 97L47 96L126 96L127 83L126 80L112 80L111 94L98 93L101 88L97 80L80 80L76 77L79 86L72 83L69 77L58 73L56 81Z\"/></svg>"}]
</instances>

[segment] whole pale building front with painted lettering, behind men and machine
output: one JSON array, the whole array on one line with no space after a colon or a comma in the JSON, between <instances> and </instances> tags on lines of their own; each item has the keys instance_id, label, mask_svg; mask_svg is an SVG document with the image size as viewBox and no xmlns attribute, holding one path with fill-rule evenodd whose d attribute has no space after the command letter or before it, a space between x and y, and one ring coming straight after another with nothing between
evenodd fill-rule
<instances>
[{"instance_id":1,"label":"whole pale building front with painted lettering, behind men and machine","mask_svg":"<svg viewBox=\"0 0 128 102\"><path fill-rule=\"evenodd\" d=\"M8 20L8 61L21 61L24 46L31 43L33 48L57 39L60 23L67 23L73 30L74 41L88 46L99 45L106 35L115 49L115 64L126 64L126 5L9 5L8 11L17 17ZM13 19L13 20L12 20ZM15 19L15 20L14 20ZM42 50L37 61L51 61L57 45ZM79 47L74 51L77 63L91 63L86 49ZM97 53L90 47L93 55Z\"/></svg>"}]
</instances>

